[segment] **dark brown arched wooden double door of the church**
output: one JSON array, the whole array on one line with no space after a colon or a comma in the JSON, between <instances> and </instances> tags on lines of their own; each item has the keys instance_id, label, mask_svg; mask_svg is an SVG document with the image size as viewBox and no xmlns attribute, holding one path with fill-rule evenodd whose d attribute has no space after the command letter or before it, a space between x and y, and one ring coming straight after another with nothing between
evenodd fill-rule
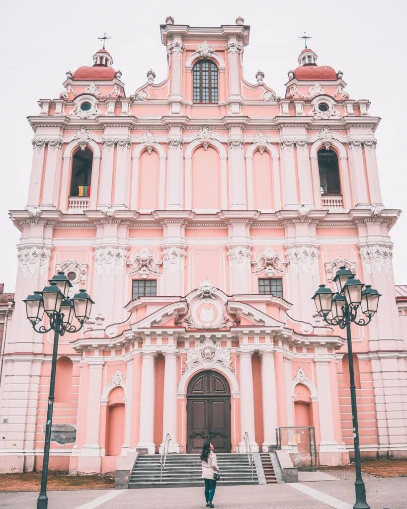
<instances>
[{"instance_id":1,"label":"dark brown arched wooden double door of the church","mask_svg":"<svg viewBox=\"0 0 407 509\"><path fill-rule=\"evenodd\" d=\"M210 440L217 453L230 453L230 388L223 375L202 371L187 390L187 453Z\"/></svg>"}]
</instances>

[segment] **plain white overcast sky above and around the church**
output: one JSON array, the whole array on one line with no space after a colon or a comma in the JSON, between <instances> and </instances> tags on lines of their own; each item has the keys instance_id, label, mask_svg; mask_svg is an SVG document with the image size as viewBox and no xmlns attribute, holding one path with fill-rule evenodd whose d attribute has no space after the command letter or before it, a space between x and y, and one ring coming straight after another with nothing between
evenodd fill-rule
<instances>
[{"instance_id":1,"label":"plain white overcast sky above and around the church","mask_svg":"<svg viewBox=\"0 0 407 509\"><path fill-rule=\"evenodd\" d=\"M8 210L24 208L31 169L33 132L26 116L39 113L39 98L59 97L67 70L92 65L103 32L112 37L106 47L113 67L123 72L127 95L146 82L150 68L156 82L163 80L167 58L159 24L167 15L191 26L234 24L243 16L251 25L245 77L255 82L255 72L263 70L265 82L281 96L287 71L297 66L303 48L298 36L306 31L318 64L342 70L351 98L369 99L371 115L382 117L376 137L384 204L405 208L406 5L402 0L5 2L0 20L0 281L5 291L14 291L19 238ZM407 284L406 212L391 234L395 281Z\"/></svg>"}]
</instances>

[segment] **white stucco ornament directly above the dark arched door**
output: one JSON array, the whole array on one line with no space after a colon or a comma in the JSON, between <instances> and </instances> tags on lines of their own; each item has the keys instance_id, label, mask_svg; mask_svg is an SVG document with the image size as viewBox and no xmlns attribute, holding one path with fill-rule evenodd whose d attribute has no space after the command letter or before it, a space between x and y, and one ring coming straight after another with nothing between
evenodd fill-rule
<instances>
[{"instance_id":1,"label":"white stucco ornament directly above the dark arched door","mask_svg":"<svg viewBox=\"0 0 407 509\"><path fill-rule=\"evenodd\" d=\"M212 340L209 334L205 336L205 340L198 347L187 351L185 365L184 372L198 366L210 369L211 367L216 367L216 365L234 371L231 367L230 351L222 348L220 342Z\"/></svg>"}]
</instances>

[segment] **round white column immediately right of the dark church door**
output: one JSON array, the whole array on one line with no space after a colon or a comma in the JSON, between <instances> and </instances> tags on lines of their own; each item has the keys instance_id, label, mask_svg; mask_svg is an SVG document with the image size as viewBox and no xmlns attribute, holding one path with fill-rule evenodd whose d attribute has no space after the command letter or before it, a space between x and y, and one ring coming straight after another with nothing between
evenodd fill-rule
<instances>
[{"instance_id":1,"label":"round white column immediately right of the dark church door","mask_svg":"<svg viewBox=\"0 0 407 509\"><path fill-rule=\"evenodd\" d=\"M247 432L253 453L258 453L254 434L253 372L251 367L253 350L238 350L238 355L240 362L240 429L242 434L239 451L246 452L243 436Z\"/></svg>"}]
</instances>

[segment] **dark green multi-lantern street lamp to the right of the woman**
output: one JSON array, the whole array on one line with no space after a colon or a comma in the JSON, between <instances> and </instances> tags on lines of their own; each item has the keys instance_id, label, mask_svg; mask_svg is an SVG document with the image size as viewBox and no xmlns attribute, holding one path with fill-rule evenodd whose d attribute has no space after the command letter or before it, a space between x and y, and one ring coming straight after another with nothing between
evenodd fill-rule
<instances>
[{"instance_id":1,"label":"dark green multi-lantern street lamp to the right of the woman","mask_svg":"<svg viewBox=\"0 0 407 509\"><path fill-rule=\"evenodd\" d=\"M315 302L318 315L322 316L329 325L339 325L341 329L346 329L347 352L349 360L349 378L351 382L351 404L352 404L352 422L353 422L353 441L355 447L355 493L356 502L354 509L370 509L366 502L366 490L362 479L362 469L360 465L359 449L359 428L358 412L356 406L355 374L353 367L352 336L351 323L365 326L371 322L371 319L377 311L379 297L381 295L371 288L370 285L364 285L350 270L340 267L337 271L334 282L337 293L333 293L325 285L319 285L312 299ZM362 291L363 287L365 289ZM358 310L361 310L364 316L358 317Z\"/></svg>"}]
</instances>

